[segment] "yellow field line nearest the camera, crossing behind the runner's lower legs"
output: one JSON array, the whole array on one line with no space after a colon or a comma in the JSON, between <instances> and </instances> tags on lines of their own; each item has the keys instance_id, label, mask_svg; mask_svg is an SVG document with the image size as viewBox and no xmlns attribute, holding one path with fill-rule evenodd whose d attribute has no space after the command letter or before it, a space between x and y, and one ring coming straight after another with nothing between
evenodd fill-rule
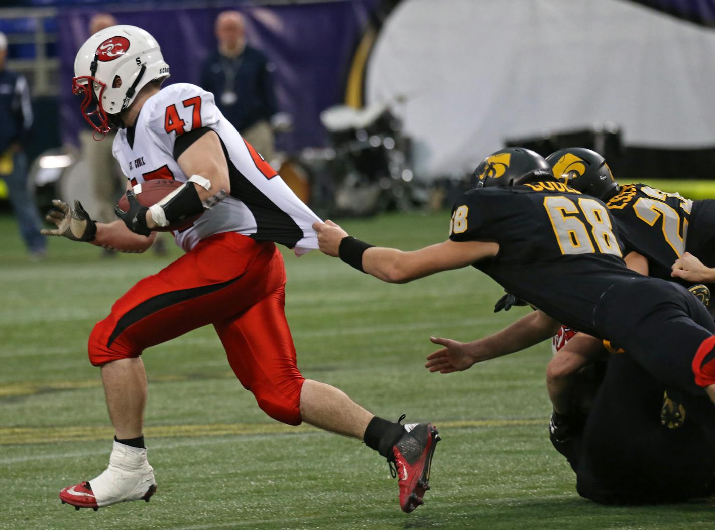
<instances>
[{"instance_id":1,"label":"yellow field line nearest the camera, crossing behind the runner's lower legs","mask_svg":"<svg viewBox=\"0 0 715 530\"><path fill-rule=\"evenodd\" d=\"M439 421L438 428L465 429L469 427L512 427L546 425L546 419L474 419ZM189 424L154 425L144 427L147 438L175 438L194 436L226 436L247 434L295 434L318 432L307 424L290 426L271 424ZM52 426L52 427L0 427L0 445L44 444L59 441L99 441L112 439L111 426Z\"/></svg>"}]
</instances>

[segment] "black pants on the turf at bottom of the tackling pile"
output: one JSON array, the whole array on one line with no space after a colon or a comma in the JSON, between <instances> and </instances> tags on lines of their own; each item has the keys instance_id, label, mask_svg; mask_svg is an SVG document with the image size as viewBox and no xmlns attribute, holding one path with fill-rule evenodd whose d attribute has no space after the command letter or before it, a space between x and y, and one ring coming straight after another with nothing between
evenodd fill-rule
<instances>
[{"instance_id":1,"label":"black pants on the turf at bottom of the tackling pile","mask_svg":"<svg viewBox=\"0 0 715 530\"><path fill-rule=\"evenodd\" d=\"M576 471L576 489L601 504L661 504L715 492L715 407L669 391L685 421L661 425L665 386L625 354L611 356L583 431L552 439Z\"/></svg>"}]
</instances>

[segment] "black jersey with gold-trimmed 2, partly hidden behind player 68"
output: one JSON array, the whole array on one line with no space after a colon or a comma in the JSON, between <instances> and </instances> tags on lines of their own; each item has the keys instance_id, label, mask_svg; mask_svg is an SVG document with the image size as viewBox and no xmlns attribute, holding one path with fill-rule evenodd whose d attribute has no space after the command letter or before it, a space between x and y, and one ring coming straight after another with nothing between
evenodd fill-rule
<instances>
[{"instance_id":1,"label":"black jersey with gold-trimmed 2, partly hidden behind player 68","mask_svg":"<svg viewBox=\"0 0 715 530\"><path fill-rule=\"evenodd\" d=\"M646 184L627 184L606 206L618 224L623 256L636 251L648 259L650 276L672 280L671 266L686 249L693 201Z\"/></svg>"}]
</instances>

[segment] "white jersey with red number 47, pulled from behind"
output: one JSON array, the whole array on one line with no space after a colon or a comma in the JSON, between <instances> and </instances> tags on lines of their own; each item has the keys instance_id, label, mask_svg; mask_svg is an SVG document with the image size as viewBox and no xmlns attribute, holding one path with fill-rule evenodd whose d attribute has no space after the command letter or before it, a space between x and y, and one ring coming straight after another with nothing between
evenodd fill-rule
<instances>
[{"instance_id":1,"label":"white jersey with red number 47, pulled from behind","mask_svg":"<svg viewBox=\"0 0 715 530\"><path fill-rule=\"evenodd\" d=\"M217 109L213 94L198 86L173 84L147 99L134 129L120 129L114 138L114 158L132 186L152 179L186 182L190 175L174 159L174 143L202 127L215 131L225 146L231 194L188 229L174 231L177 245L190 251L208 236L237 232L295 248L296 254L317 249L311 226L320 218L242 139Z\"/></svg>"}]
</instances>

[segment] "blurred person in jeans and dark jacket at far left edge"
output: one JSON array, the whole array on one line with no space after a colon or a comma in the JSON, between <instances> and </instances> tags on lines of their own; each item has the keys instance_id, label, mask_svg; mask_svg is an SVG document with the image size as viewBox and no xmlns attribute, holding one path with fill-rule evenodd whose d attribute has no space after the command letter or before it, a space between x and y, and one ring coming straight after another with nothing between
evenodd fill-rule
<instances>
[{"instance_id":1,"label":"blurred person in jeans and dark jacket at far left edge","mask_svg":"<svg viewBox=\"0 0 715 530\"><path fill-rule=\"evenodd\" d=\"M5 180L10 202L27 250L44 258L46 241L40 235L41 219L27 183L24 146L32 126L30 89L21 74L5 68L7 38L0 33L0 176Z\"/></svg>"}]
</instances>

